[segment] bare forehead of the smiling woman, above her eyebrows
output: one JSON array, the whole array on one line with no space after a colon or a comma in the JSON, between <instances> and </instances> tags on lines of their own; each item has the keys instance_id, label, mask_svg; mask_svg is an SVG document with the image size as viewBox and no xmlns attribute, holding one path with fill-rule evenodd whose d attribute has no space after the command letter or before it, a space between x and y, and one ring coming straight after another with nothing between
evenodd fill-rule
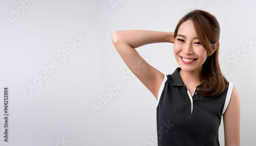
<instances>
[{"instance_id":1,"label":"bare forehead of the smiling woman, above her eyebrows","mask_svg":"<svg viewBox=\"0 0 256 146\"><path fill-rule=\"evenodd\" d=\"M194 23L192 20L186 20L185 22L181 23L178 34L184 35L186 37L196 37L197 33L194 28Z\"/></svg>"}]
</instances>

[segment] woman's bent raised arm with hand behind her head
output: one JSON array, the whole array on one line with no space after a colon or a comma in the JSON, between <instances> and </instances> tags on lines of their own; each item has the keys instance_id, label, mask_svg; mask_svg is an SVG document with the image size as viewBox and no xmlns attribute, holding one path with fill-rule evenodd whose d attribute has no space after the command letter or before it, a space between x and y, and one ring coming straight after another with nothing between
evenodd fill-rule
<instances>
[{"instance_id":1,"label":"woman's bent raised arm with hand behind her head","mask_svg":"<svg viewBox=\"0 0 256 146\"><path fill-rule=\"evenodd\" d=\"M174 42L173 32L157 32L144 30L115 31L112 42L135 76L153 93L155 98L163 81L162 72L148 64L134 48L139 46L158 43Z\"/></svg>"}]
</instances>

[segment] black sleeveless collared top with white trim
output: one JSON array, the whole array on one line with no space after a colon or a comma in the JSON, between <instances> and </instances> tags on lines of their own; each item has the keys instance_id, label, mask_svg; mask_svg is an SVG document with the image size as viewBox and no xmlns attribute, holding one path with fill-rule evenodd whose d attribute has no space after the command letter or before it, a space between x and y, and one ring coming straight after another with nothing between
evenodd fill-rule
<instances>
[{"instance_id":1,"label":"black sleeveless collared top with white trim","mask_svg":"<svg viewBox=\"0 0 256 146\"><path fill-rule=\"evenodd\" d=\"M217 146L219 126L225 112L233 84L229 83L217 98L190 95L177 68L167 75L157 106L158 146ZM166 78L165 78L166 79ZM226 98L227 97L227 98Z\"/></svg>"}]
</instances>

